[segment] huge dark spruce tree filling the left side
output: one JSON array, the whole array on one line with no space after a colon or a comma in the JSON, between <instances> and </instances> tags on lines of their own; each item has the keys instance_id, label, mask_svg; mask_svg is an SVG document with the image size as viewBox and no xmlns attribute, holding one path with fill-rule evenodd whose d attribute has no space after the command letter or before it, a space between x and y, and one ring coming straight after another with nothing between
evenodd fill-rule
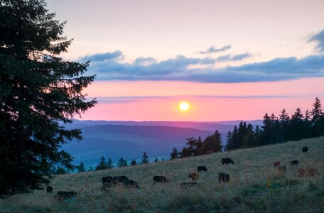
<instances>
[{"instance_id":1,"label":"huge dark spruce tree filling the left side","mask_svg":"<svg viewBox=\"0 0 324 213\"><path fill-rule=\"evenodd\" d=\"M63 124L97 102L82 93L89 62L59 57L72 40L54 18L43 0L0 1L0 197L43 189L53 165L71 170L60 147L82 136Z\"/></svg>"}]
</instances>

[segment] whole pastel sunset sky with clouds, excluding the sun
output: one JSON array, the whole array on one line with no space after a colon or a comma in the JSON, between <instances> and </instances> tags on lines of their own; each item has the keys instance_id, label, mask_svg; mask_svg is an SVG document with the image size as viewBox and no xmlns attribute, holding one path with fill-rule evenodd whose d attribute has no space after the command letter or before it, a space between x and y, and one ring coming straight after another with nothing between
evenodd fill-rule
<instances>
[{"instance_id":1,"label":"whole pastel sunset sky with clouds, excluding the sun","mask_svg":"<svg viewBox=\"0 0 324 213\"><path fill-rule=\"evenodd\" d=\"M48 0L90 60L75 119L227 121L324 101L324 1ZM188 111L178 105L188 102Z\"/></svg>"}]
</instances>

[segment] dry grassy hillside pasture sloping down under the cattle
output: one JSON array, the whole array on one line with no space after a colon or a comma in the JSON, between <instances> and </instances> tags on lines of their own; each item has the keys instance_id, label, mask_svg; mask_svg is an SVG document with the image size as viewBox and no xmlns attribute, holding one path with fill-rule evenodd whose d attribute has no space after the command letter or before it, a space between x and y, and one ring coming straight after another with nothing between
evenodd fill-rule
<instances>
[{"instance_id":1,"label":"dry grassy hillside pasture sloping down under the cattle","mask_svg":"<svg viewBox=\"0 0 324 213\"><path fill-rule=\"evenodd\" d=\"M308 153L301 148L308 146ZM234 165L222 165L230 157ZM284 178L275 178L274 161L288 170ZM298 167L317 168L317 178L298 178ZM189 182L188 173L206 165L200 173L202 187L181 189ZM231 181L219 184L218 173L228 173ZM60 175L51 185L58 190L75 190L75 200L59 203L53 194L36 191L0 200L0 212L324 212L324 138L289 142L230 153L216 153L168 162L137 165L91 173ZM114 188L100 192L101 178L126 175L140 190ZM166 185L153 185L153 175L171 178ZM269 181L267 181L269 180Z\"/></svg>"}]
</instances>

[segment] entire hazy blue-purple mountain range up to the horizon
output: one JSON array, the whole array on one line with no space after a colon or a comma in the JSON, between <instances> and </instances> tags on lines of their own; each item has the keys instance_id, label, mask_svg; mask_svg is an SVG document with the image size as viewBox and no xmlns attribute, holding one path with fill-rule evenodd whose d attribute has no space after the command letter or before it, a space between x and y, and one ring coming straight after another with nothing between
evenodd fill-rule
<instances>
[{"instance_id":1,"label":"entire hazy blue-purple mountain range up to the horizon","mask_svg":"<svg viewBox=\"0 0 324 213\"><path fill-rule=\"evenodd\" d=\"M75 157L75 164L96 165L99 158L111 157L114 162L123 157L126 160L140 159L146 152L153 160L156 157L169 158L173 147L185 146L185 138L201 136L202 139L216 129L226 134L240 121L185 122L185 121L80 121L68 124L68 129L81 129L84 140L70 141L63 146ZM248 121L253 125L261 121Z\"/></svg>"}]
</instances>

